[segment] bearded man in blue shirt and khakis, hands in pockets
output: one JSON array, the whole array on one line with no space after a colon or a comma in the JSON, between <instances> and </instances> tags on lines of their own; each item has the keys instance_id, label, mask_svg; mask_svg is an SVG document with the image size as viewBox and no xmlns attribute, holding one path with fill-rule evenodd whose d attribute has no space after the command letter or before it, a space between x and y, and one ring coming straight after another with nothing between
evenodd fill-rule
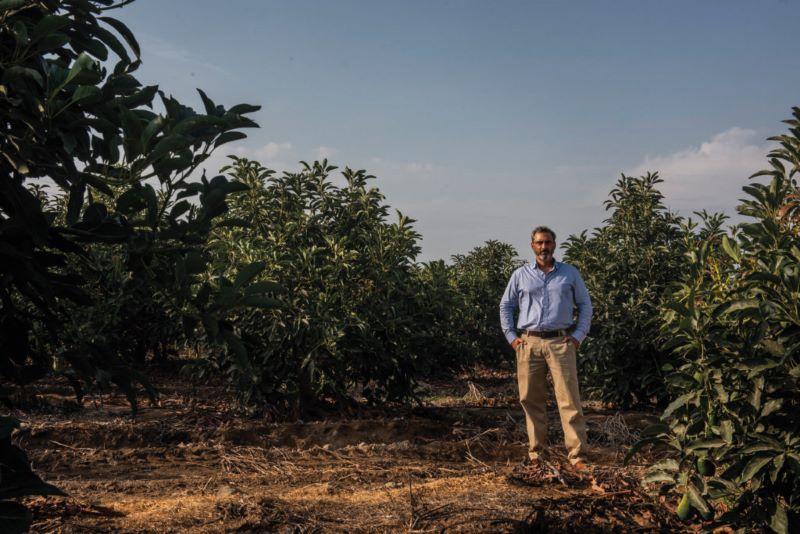
<instances>
[{"instance_id":1,"label":"bearded man in blue shirt and khakis, hands in pockets","mask_svg":"<svg viewBox=\"0 0 800 534\"><path fill-rule=\"evenodd\" d=\"M528 456L536 462L546 451L549 368L568 458L575 469L583 470L587 468L588 443L575 357L589 332L592 303L578 270L555 261L555 248L556 234L551 229L539 226L531 232L536 261L511 275L500 301L500 324L517 354L517 382L528 430ZM573 322L575 308L578 318ZM519 309L516 328L515 309Z\"/></svg>"}]
</instances>

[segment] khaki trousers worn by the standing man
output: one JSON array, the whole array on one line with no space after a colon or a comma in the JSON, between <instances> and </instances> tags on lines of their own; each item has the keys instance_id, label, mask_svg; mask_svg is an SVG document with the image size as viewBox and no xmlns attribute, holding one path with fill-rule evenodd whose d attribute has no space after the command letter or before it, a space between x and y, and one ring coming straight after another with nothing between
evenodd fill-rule
<instances>
[{"instance_id":1,"label":"khaki trousers worn by the standing man","mask_svg":"<svg viewBox=\"0 0 800 534\"><path fill-rule=\"evenodd\" d=\"M538 459L547 447L547 369L553 377L564 444L571 463L586 459L586 421L578 390L575 345L562 337L542 339L522 335L517 346L519 401L525 411L528 429L528 455Z\"/></svg>"}]
</instances>

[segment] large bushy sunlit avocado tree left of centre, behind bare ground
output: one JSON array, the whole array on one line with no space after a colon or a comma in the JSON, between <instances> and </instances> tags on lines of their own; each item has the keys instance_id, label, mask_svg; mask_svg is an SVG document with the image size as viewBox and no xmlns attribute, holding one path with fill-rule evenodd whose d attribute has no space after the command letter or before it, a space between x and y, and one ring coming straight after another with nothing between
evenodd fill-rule
<instances>
[{"instance_id":1,"label":"large bushy sunlit avocado tree left of centre, behind bare ground","mask_svg":"<svg viewBox=\"0 0 800 534\"><path fill-rule=\"evenodd\" d=\"M208 251L211 274L231 265L263 262L261 277L277 281L285 306L236 316L250 358L212 363L237 389L275 406L307 413L354 394L371 402L412 392L410 349L419 300L413 220L389 219L373 176L344 169L341 185L327 161L276 176L261 164L233 157L225 169L248 189L232 195L231 215L242 227L215 229ZM234 365L235 364L235 365Z\"/></svg>"}]
</instances>

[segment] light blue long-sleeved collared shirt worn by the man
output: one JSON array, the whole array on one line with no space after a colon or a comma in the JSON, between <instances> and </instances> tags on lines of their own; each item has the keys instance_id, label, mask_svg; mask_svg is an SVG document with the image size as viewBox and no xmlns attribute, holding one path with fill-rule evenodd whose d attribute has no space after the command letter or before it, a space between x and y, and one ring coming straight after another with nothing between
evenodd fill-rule
<instances>
[{"instance_id":1,"label":"light blue long-sleeved collared shirt worn by the man","mask_svg":"<svg viewBox=\"0 0 800 534\"><path fill-rule=\"evenodd\" d=\"M519 308L514 328L514 309ZM574 309L578 321L573 323ZM517 330L561 330L575 324L572 337L582 342L592 323L592 301L578 269L555 262L547 274L536 262L523 265L511 275L500 300L500 325L509 343Z\"/></svg>"}]
</instances>

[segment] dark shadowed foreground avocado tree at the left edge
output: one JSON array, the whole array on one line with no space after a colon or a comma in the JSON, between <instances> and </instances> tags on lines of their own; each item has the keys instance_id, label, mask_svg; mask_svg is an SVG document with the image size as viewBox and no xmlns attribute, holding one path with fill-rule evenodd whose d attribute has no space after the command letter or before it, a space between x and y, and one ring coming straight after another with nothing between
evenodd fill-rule
<instances>
[{"instance_id":1,"label":"dark shadowed foreground avocado tree at the left edge","mask_svg":"<svg viewBox=\"0 0 800 534\"><path fill-rule=\"evenodd\" d=\"M135 37L106 15L127 3L0 2L0 375L25 384L60 369L76 388L117 384L135 408L134 385L146 380L109 345L115 333L70 335L67 326L97 305L87 289L108 263L96 251L105 247L126 276L158 293L185 334L202 325L220 350L240 350L225 317L246 305L244 286L261 266L245 267L238 286L197 275L227 195L244 186L189 178L215 148L256 126L244 115L258 108L225 109L201 91L197 113L143 86ZM62 192L60 213L36 194L44 182ZM13 424L3 425L5 436ZM7 483L0 498L26 491L5 492Z\"/></svg>"}]
</instances>

